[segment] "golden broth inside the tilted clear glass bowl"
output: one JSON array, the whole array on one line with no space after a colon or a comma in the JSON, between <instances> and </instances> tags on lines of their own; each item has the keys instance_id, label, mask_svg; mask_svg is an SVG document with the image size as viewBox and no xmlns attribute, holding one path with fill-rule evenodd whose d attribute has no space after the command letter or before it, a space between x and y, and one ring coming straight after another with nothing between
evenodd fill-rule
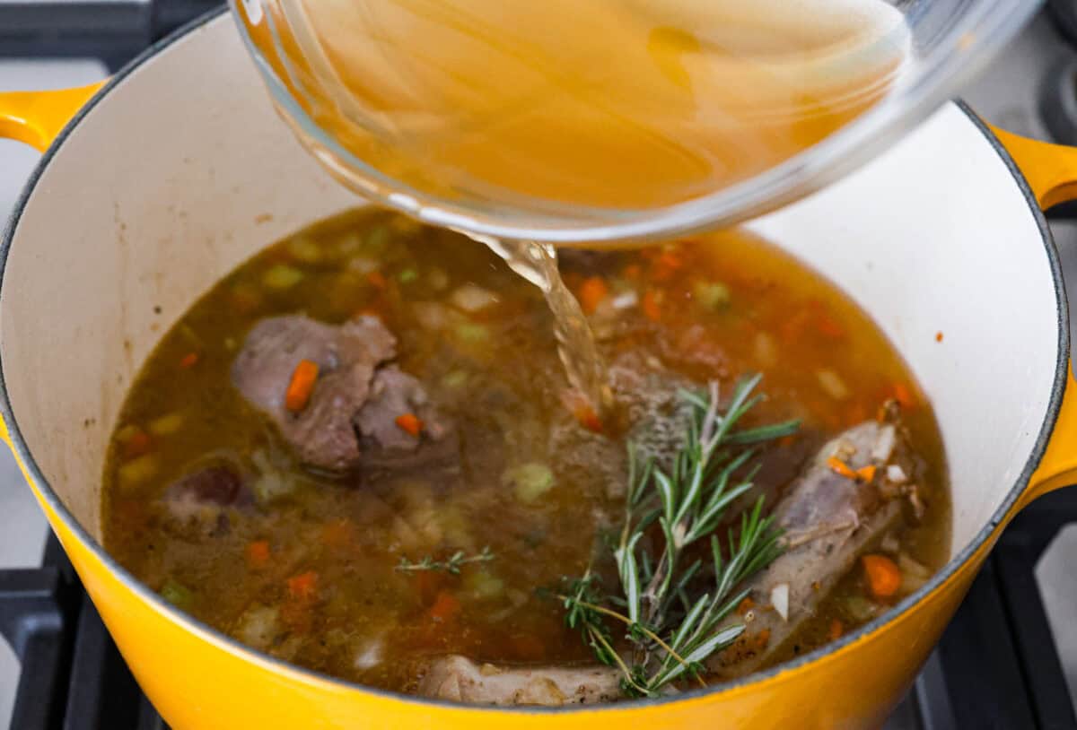
<instances>
[{"instance_id":1,"label":"golden broth inside the tilted clear glass bowl","mask_svg":"<svg viewBox=\"0 0 1077 730\"><path fill-rule=\"evenodd\" d=\"M283 55L265 20L254 42L360 162L509 207L657 207L751 178L882 98L909 43L882 0L261 6Z\"/></svg>"}]
</instances>

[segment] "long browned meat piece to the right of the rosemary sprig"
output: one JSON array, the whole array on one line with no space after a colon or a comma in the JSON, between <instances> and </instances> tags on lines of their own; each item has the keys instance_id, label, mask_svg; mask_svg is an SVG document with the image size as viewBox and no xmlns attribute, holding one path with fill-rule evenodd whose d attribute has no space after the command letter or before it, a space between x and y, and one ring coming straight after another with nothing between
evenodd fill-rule
<instances>
[{"instance_id":1,"label":"long browned meat piece to the right of the rosemary sprig","mask_svg":"<svg viewBox=\"0 0 1077 730\"><path fill-rule=\"evenodd\" d=\"M876 465L876 479L862 483L837 474L827 465L831 457L852 469ZM755 607L744 617L745 631L736 644L712 657L711 672L722 677L754 672L814 615L861 553L897 521L901 503L884 496L893 493L885 489L885 467L898 464L911 474L908 459L893 423L862 423L823 447L778 504L774 516L785 531L786 550L749 585ZM773 598L786 591L787 600L780 601L787 605L783 618ZM740 620L736 617L730 623Z\"/></svg>"}]
</instances>

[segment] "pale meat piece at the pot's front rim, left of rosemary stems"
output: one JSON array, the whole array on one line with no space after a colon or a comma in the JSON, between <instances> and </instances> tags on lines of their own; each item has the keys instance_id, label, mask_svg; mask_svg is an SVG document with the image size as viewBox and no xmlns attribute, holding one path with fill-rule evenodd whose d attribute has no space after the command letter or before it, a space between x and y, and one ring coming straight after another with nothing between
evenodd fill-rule
<instances>
[{"instance_id":1,"label":"pale meat piece at the pot's front rim, left of rosemary stems","mask_svg":"<svg viewBox=\"0 0 1077 730\"><path fill-rule=\"evenodd\" d=\"M430 664L418 693L472 704L596 704L620 698L620 675L607 666L496 668L452 655Z\"/></svg>"}]
</instances>

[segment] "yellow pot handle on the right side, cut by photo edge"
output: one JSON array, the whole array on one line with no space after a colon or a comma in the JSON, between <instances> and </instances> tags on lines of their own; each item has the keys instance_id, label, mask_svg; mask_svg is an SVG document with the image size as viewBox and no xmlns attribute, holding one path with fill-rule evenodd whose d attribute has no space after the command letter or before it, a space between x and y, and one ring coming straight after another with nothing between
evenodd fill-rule
<instances>
[{"instance_id":1,"label":"yellow pot handle on the right side, cut by photo edge","mask_svg":"<svg viewBox=\"0 0 1077 730\"><path fill-rule=\"evenodd\" d=\"M1051 144L991 127L1024 176L1044 210L1077 200L1077 148ZM1066 376L1062 407L1039 466L1029 479L1021 505L1069 485L1077 485L1077 380L1073 362Z\"/></svg>"}]
</instances>

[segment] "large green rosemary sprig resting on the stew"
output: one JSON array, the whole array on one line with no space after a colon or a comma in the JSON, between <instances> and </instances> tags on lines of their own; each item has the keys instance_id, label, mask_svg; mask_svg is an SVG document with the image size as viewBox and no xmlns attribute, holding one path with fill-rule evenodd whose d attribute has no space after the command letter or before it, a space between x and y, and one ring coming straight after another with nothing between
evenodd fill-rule
<instances>
[{"instance_id":1,"label":"large green rosemary sprig resting on the stew","mask_svg":"<svg viewBox=\"0 0 1077 730\"><path fill-rule=\"evenodd\" d=\"M717 534L730 505L753 487L758 465L751 465L756 450L749 447L792 434L798 425L737 429L763 398L753 395L760 378L738 382L724 410L717 383L705 394L682 393L691 410L688 433L666 468L629 444L624 527L613 546L620 594L603 595L588 571L560 595L568 626L582 632L600 661L621 670L628 694L654 696L685 677L702 683L703 662L744 631L725 620L747 594L735 592L737 587L781 553L780 532L764 516L761 496L741 513L740 529L728 531L727 545ZM656 554L647 547L654 524L660 532ZM714 581L702 594L694 579L703 560L684 564L686 550L700 541L710 542ZM630 659L614 650L606 619L626 626Z\"/></svg>"}]
</instances>

